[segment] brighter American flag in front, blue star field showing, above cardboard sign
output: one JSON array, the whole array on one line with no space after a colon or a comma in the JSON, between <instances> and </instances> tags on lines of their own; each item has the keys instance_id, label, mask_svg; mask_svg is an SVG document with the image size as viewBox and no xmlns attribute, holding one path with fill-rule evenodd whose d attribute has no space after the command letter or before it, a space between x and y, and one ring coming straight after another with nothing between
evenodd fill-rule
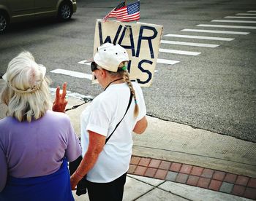
<instances>
[{"instance_id":1,"label":"brighter American flag in front, blue star field showing, above cardboard sign","mask_svg":"<svg viewBox=\"0 0 256 201\"><path fill-rule=\"evenodd\" d=\"M113 12L113 15L111 15L111 12ZM121 7L119 9L113 9L111 12L109 13L109 16L116 17L116 20L121 22L131 22L131 21L139 20L140 19L140 1Z\"/></svg>"}]
</instances>

